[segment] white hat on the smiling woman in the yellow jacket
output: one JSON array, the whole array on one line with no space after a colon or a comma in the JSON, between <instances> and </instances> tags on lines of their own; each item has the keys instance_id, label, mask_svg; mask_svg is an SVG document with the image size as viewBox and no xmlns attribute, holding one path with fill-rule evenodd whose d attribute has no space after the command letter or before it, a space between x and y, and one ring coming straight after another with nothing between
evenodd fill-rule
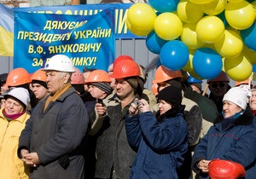
<instances>
[{"instance_id":1,"label":"white hat on the smiling woman in the yellow jacket","mask_svg":"<svg viewBox=\"0 0 256 179\"><path fill-rule=\"evenodd\" d=\"M28 106L30 102L30 95L28 93L28 90L22 87L17 87L11 89L7 94L4 95L4 99L8 99L9 97L14 97L18 101L22 102L26 107Z\"/></svg>"}]
</instances>

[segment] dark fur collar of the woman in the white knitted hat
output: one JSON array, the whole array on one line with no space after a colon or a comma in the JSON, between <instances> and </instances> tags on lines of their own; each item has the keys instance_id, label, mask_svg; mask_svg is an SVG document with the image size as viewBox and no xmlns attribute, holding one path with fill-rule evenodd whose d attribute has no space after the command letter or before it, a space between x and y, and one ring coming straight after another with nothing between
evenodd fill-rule
<instances>
[{"instance_id":1,"label":"dark fur collar of the woman in the white knitted hat","mask_svg":"<svg viewBox=\"0 0 256 179\"><path fill-rule=\"evenodd\" d=\"M253 123L253 112L250 107L247 107L244 113L241 114L238 118L234 119L233 124L235 125L248 125ZM224 120L222 113L218 114L218 117L215 118L214 124L221 123Z\"/></svg>"}]
</instances>

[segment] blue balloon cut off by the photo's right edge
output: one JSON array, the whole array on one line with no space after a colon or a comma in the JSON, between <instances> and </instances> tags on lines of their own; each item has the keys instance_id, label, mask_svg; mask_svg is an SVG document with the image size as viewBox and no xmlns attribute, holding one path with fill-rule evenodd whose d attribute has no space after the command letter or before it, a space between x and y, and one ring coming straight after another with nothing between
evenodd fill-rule
<instances>
[{"instance_id":1,"label":"blue balloon cut off by the photo's right edge","mask_svg":"<svg viewBox=\"0 0 256 179\"><path fill-rule=\"evenodd\" d=\"M247 45L247 47L256 51L256 24L253 23L253 25L249 28L242 30L240 34L241 39Z\"/></svg>"}]
</instances>

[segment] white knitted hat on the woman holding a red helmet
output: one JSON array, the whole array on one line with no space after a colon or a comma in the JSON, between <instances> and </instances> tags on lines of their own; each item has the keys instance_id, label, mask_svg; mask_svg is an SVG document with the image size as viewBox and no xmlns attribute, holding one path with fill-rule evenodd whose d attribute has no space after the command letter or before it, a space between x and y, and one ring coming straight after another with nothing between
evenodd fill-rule
<instances>
[{"instance_id":1,"label":"white knitted hat on the woman holding a red helmet","mask_svg":"<svg viewBox=\"0 0 256 179\"><path fill-rule=\"evenodd\" d=\"M238 107L241 107L243 110L247 108L248 97L251 95L246 86L237 86L231 88L223 98L223 101L230 101L235 103Z\"/></svg>"}]
</instances>

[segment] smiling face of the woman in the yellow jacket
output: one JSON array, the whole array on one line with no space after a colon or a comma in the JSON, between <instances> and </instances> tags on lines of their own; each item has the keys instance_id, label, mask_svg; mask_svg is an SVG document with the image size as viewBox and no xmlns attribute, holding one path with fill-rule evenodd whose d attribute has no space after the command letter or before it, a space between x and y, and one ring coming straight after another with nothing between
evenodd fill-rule
<instances>
[{"instance_id":1,"label":"smiling face of the woman in the yellow jacket","mask_svg":"<svg viewBox=\"0 0 256 179\"><path fill-rule=\"evenodd\" d=\"M15 98L7 98L5 101L4 111L6 114L17 114L24 111L24 107Z\"/></svg>"}]
</instances>

